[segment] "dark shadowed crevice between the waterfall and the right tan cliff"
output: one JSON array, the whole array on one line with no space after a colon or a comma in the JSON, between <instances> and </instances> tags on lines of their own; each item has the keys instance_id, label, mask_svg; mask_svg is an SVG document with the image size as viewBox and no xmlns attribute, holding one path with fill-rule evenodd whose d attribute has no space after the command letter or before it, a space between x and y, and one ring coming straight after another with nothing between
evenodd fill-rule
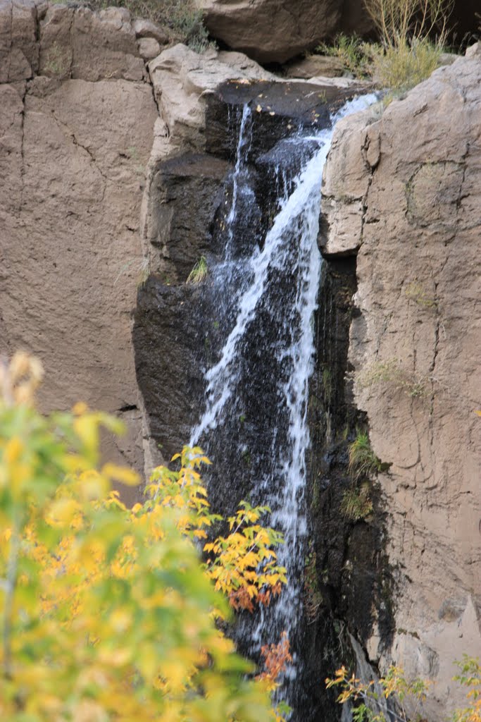
<instances>
[{"instance_id":1,"label":"dark shadowed crevice between the waterfall and the right tan cliff","mask_svg":"<svg viewBox=\"0 0 481 722\"><path fill-rule=\"evenodd\" d=\"M319 680L341 664L354 669L349 634L365 648L379 629L381 648L394 630L394 578L385 550L381 490L369 481L372 511L366 518L345 516L343 497L356 489L348 470L348 448L358 429L368 429L356 409L348 381L349 331L357 309L356 257L329 258L322 269L317 311L317 365L312 380L309 419L312 435L308 499L320 604L310 627L309 664L317 680L312 698L316 720L339 720L337 692Z\"/></svg>"}]
</instances>

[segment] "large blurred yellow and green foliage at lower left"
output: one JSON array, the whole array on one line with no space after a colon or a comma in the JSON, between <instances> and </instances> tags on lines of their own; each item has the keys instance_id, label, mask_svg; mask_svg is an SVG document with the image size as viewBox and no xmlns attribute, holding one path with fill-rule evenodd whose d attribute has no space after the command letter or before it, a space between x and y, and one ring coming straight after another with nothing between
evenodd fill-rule
<instances>
[{"instance_id":1,"label":"large blurred yellow and green foliage at lower left","mask_svg":"<svg viewBox=\"0 0 481 722\"><path fill-rule=\"evenodd\" d=\"M240 508L202 566L193 539L214 517L200 450L182 453L180 471L156 469L128 510L111 482L136 474L98 468L100 430L119 422L83 404L43 417L32 404L41 375L25 355L0 367L0 717L280 719L269 665L250 679L213 618L229 617L227 599L248 609L286 580L262 510Z\"/></svg>"}]
</instances>

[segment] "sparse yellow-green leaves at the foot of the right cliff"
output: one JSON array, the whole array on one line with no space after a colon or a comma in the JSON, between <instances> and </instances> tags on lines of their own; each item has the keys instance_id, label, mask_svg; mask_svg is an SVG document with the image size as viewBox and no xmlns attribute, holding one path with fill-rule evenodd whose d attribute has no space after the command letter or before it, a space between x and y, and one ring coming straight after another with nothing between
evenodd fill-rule
<instances>
[{"instance_id":1,"label":"sparse yellow-green leaves at the foot of the right cliff","mask_svg":"<svg viewBox=\"0 0 481 722\"><path fill-rule=\"evenodd\" d=\"M461 674L453 679L467 687L468 706L456 710L452 722L481 722L481 666L479 659L464 656L456 662ZM342 666L335 677L326 679L326 687L339 687L337 702L353 705L354 722L415 722L420 719L420 708L430 682L423 679L408 680L402 668L390 666L385 677L376 684L362 682ZM387 713L387 700L394 704ZM427 721L424 721L427 722Z\"/></svg>"}]
</instances>

